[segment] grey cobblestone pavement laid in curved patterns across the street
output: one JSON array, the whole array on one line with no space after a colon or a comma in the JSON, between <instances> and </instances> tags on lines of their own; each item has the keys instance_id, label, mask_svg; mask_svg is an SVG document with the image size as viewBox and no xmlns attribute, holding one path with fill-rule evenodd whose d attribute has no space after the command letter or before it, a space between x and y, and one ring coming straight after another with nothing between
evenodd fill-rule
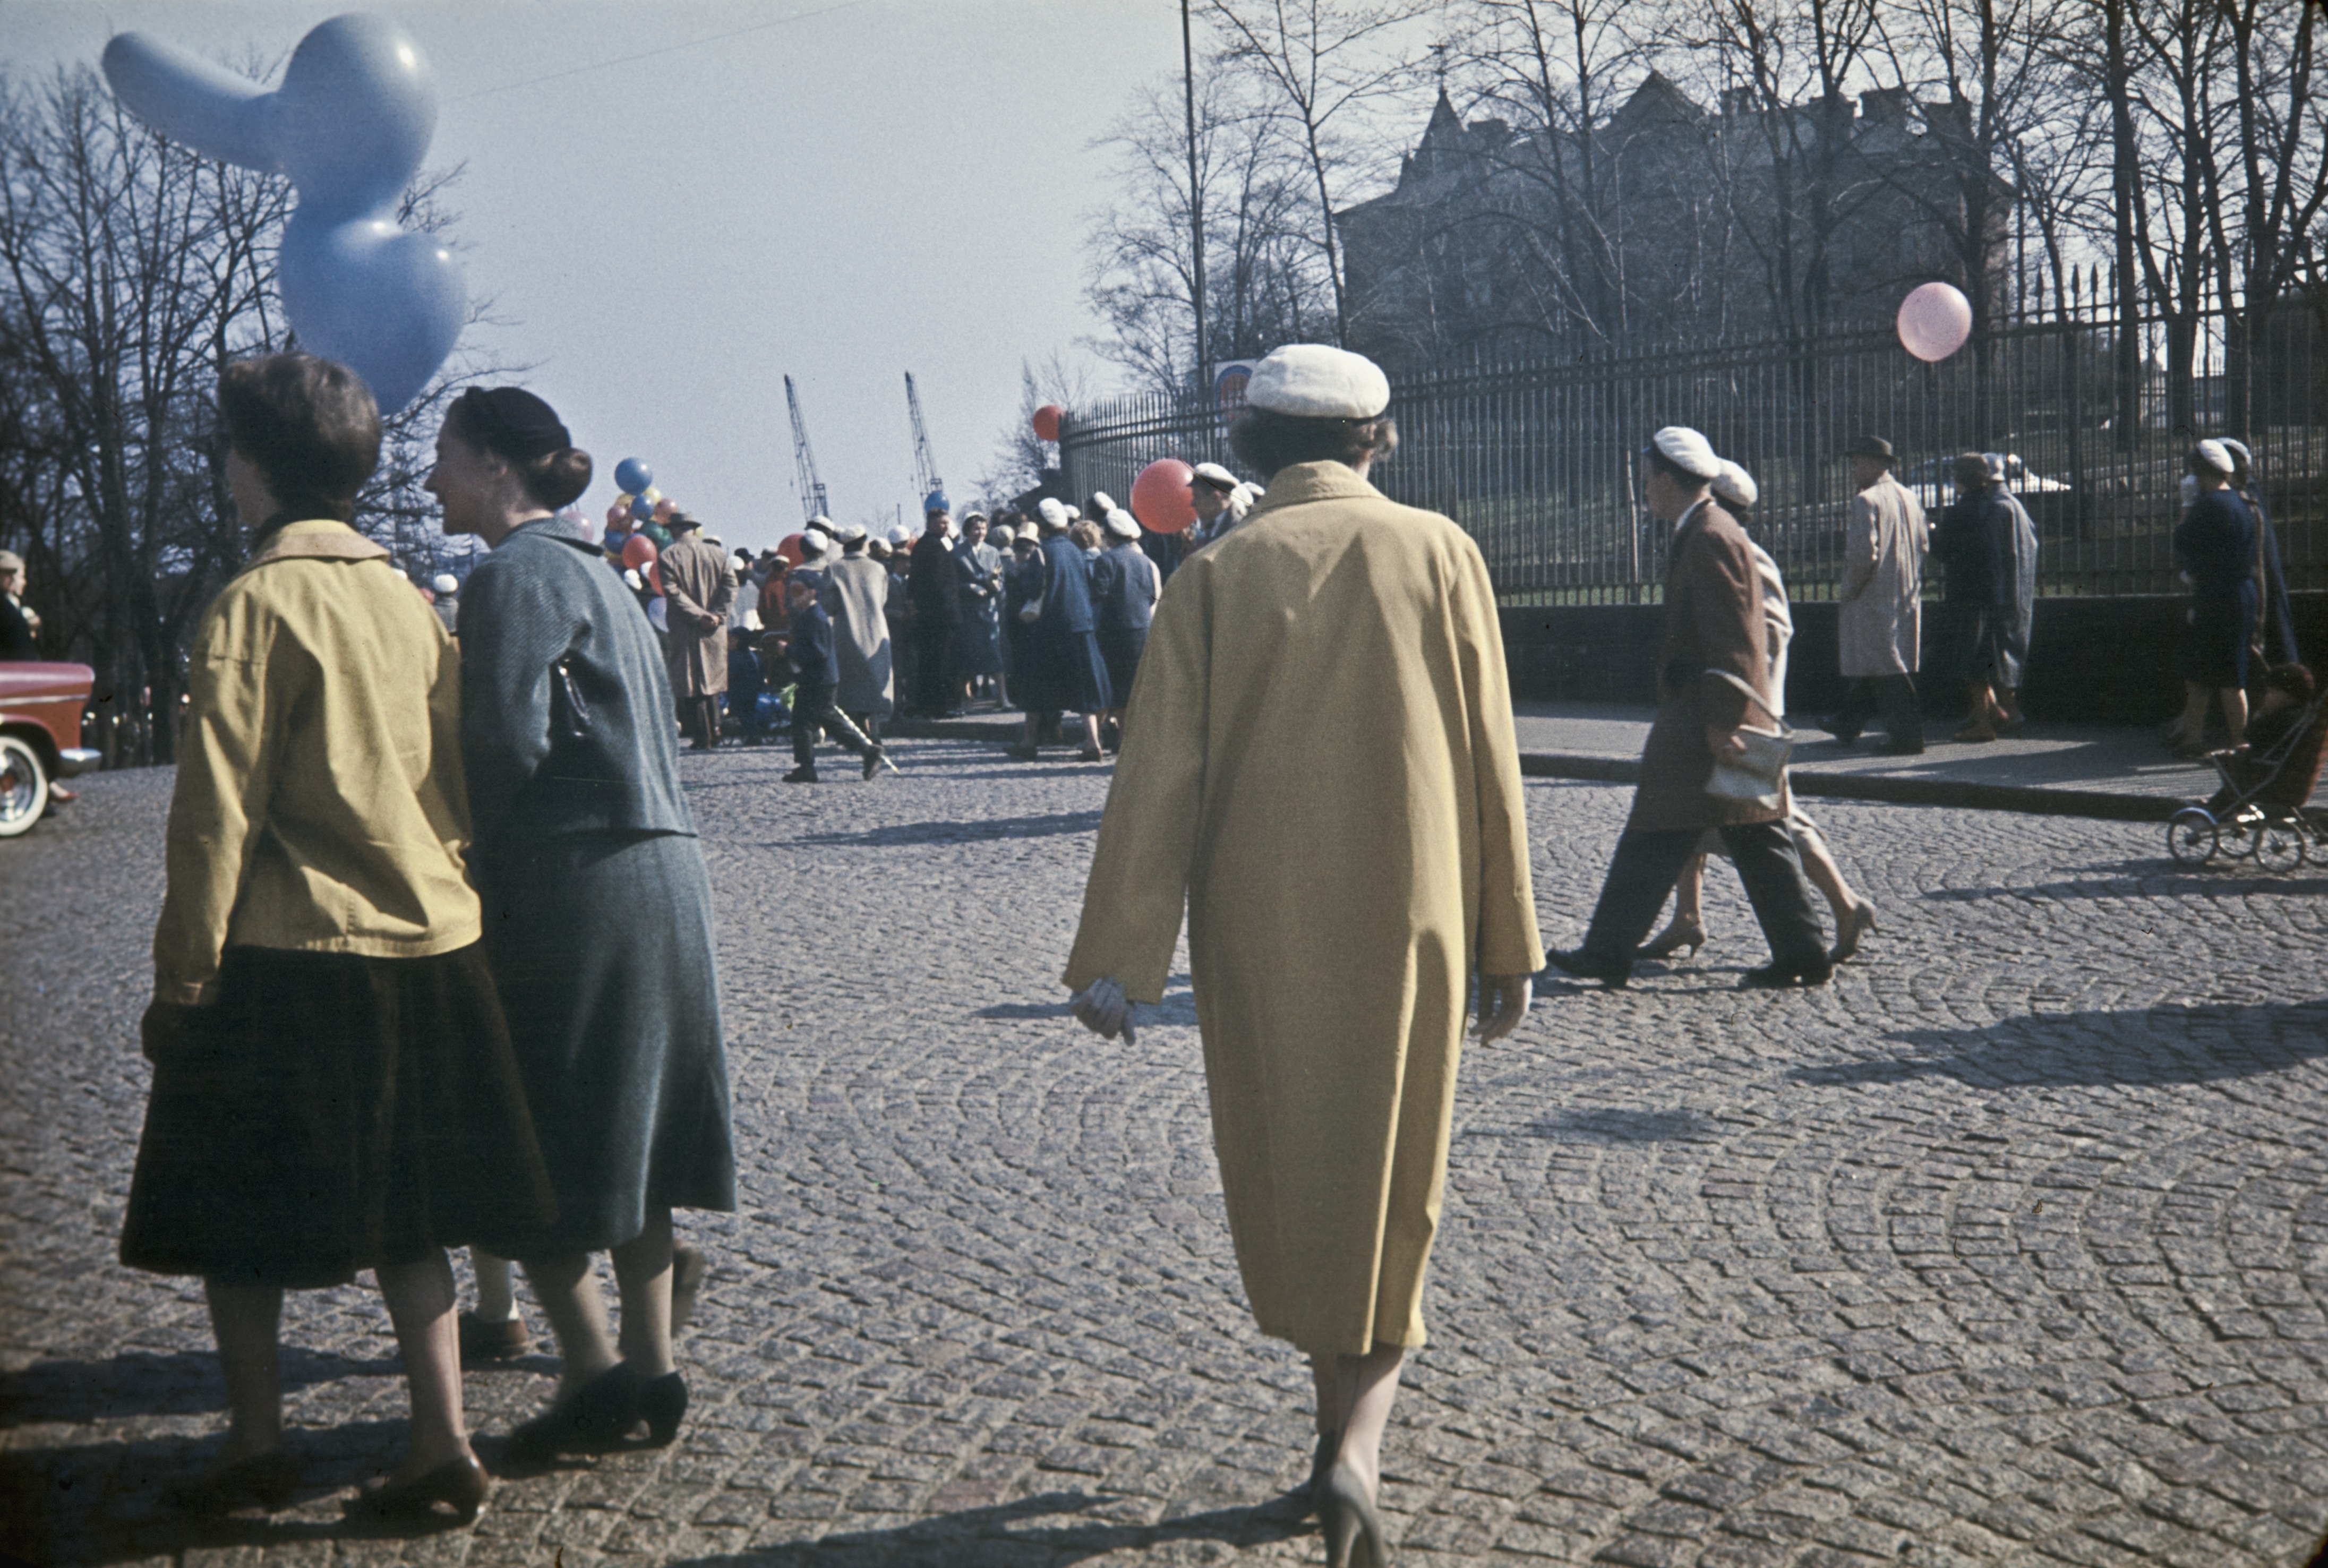
<instances>
[{"instance_id":1,"label":"grey cobblestone pavement laid in curved patterns across the street","mask_svg":"<svg viewBox=\"0 0 2328 1568\"><path fill-rule=\"evenodd\" d=\"M200 1563L1315 1563L1273 1503L1308 1380L1245 1319L1185 979L1136 1047L1055 984L1103 768L899 747L819 789L689 758L722 896L743 1210L680 1442L349 1538L393 1459L377 1296L286 1319L303 1503L186 1526L223 1424L200 1296L112 1261L168 775L0 847L0 1547ZM833 770L833 777L850 777ZM1625 791L1527 791L1574 942ZM2163 833L1820 810L1883 910L1818 993L1716 940L1464 1063L1401 1563L2298 1563L2328 1528L2328 875ZM1353 854L1364 854L1353 844ZM540 1321L535 1319L535 1326ZM494 1438L547 1359L468 1380Z\"/></svg>"}]
</instances>

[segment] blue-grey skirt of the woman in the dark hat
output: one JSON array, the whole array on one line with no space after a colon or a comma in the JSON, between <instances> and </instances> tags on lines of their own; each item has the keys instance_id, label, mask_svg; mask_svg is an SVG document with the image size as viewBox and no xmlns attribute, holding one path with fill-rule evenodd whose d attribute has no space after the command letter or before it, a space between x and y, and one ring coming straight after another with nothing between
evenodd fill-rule
<instances>
[{"instance_id":1,"label":"blue-grey skirt of the woman in the dark hat","mask_svg":"<svg viewBox=\"0 0 2328 1568\"><path fill-rule=\"evenodd\" d=\"M601 1252L647 1207L733 1210L712 889L684 833L575 833L477 863L484 945L556 1224L517 1256Z\"/></svg>"}]
</instances>

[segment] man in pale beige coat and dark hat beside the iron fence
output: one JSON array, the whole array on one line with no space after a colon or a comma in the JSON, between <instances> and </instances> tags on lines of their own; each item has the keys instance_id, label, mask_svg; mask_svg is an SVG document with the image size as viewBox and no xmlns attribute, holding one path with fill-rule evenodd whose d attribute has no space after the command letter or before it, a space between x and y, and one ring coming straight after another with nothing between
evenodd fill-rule
<instances>
[{"instance_id":1,"label":"man in pale beige coat and dark hat beside the iron fence","mask_svg":"<svg viewBox=\"0 0 2328 1568\"><path fill-rule=\"evenodd\" d=\"M1923 649L1923 551L1930 533L1923 505L1893 479L1893 449L1881 435L1862 435L1848 447L1851 526L1844 533L1844 582L1837 591L1837 640L1851 691L1844 707L1820 724L1844 744L1883 712L1888 756L1923 751L1923 717L1916 710L1916 668Z\"/></svg>"}]
</instances>

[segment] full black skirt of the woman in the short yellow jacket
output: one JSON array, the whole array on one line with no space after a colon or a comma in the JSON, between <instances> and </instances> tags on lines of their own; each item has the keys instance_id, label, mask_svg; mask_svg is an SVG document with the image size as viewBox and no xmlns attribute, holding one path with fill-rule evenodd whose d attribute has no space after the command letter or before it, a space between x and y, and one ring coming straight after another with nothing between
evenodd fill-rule
<instances>
[{"instance_id":1,"label":"full black skirt of the woman in the short yellow jacket","mask_svg":"<svg viewBox=\"0 0 2328 1568\"><path fill-rule=\"evenodd\" d=\"M154 1065L130 1268L321 1289L552 1217L480 947L230 947L196 1019Z\"/></svg>"}]
</instances>

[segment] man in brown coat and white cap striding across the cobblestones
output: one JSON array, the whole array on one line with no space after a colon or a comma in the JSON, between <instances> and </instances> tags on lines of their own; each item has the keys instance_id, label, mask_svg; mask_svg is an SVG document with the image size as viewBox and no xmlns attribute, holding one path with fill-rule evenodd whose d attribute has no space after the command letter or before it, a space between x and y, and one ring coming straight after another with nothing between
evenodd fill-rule
<instances>
[{"instance_id":1,"label":"man in brown coat and white cap striding across the cobblestones","mask_svg":"<svg viewBox=\"0 0 2328 1568\"><path fill-rule=\"evenodd\" d=\"M1553 968L1606 986L1632 975L1641 938L1658 924L1665 896L1706 828L1723 835L1769 940L1772 961L1748 970L1741 989L1818 986L1832 968L1802 858L1786 831L1793 812L1786 784L1776 805L1706 793L1716 756L1744 751L1737 730L1767 726L1767 703L1776 696L1753 547L1709 491L1718 472L1713 447L1683 426L1658 430L1641 449L1648 509L1674 523L1658 644L1658 721L1641 749L1632 817L1616 842L1585 942L1550 954Z\"/></svg>"}]
</instances>

